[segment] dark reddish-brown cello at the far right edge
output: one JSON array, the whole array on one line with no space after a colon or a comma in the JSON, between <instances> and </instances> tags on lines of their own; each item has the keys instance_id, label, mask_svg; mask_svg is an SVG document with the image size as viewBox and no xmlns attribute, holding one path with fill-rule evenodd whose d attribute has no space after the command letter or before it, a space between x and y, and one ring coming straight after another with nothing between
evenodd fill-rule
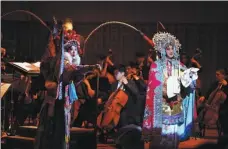
<instances>
[{"instance_id":1,"label":"dark reddish-brown cello at the far right edge","mask_svg":"<svg viewBox=\"0 0 228 149\"><path fill-rule=\"evenodd\" d=\"M220 104L226 99L221 88L222 84L219 84L203 105L204 109L200 112L198 120L204 125L214 125L218 121Z\"/></svg>"}]
</instances>

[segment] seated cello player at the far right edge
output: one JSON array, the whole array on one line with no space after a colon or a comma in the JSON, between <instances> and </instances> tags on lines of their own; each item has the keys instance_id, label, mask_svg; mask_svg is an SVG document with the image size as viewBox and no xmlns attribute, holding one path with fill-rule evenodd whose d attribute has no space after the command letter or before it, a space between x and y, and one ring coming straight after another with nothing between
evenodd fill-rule
<instances>
[{"instance_id":1,"label":"seated cello player at the far right edge","mask_svg":"<svg viewBox=\"0 0 228 149\"><path fill-rule=\"evenodd\" d=\"M228 85L227 85L227 80L225 79L225 70L224 69L218 69L216 71L216 81L211 85L210 89L208 90L207 94L205 96L201 96L199 98L199 102L202 103L203 101L208 101L212 100L212 102L216 103L216 107L219 108L219 113L217 113L217 116L219 115L219 121L221 123L222 129L225 134L228 133L228 123L227 123L227 113L228 113ZM212 97L213 96L213 97ZM218 100L213 101L213 100ZM204 115L204 117L207 115ZM216 117L212 117L212 121L215 119L217 120Z\"/></svg>"}]
</instances>

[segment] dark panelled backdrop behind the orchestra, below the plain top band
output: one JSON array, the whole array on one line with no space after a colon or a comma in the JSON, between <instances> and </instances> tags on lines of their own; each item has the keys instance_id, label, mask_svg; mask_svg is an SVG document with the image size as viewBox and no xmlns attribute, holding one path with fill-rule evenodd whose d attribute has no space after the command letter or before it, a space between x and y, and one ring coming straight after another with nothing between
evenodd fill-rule
<instances>
[{"instance_id":1,"label":"dark panelled backdrop behind the orchestra, below the plain top band","mask_svg":"<svg viewBox=\"0 0 228 149\"><path fill-rule=\"evenodd\" d=\"M51 27L51 23L47 24ZM77 23L77 33L86 36L101 23ZM157 32L156 23L131 23L149 38ZM203 91L215 79L217 68L228 67L228 24L165 24L166 30L174 34L182 44L182 51L190 56L196 48L203 51L200 62L203 66ZM47 46L49 31L38 21L20 22L2 20L2 47L8 53L14 53L17 61L39 60ZM123 25L107 25L98 29L88 40L85 47L83 63L96 63L96 55L113 51L115 63L125 64L134 60L135 52L147 53L150 45L133 29Z\"/></svg>"}]
</instances>

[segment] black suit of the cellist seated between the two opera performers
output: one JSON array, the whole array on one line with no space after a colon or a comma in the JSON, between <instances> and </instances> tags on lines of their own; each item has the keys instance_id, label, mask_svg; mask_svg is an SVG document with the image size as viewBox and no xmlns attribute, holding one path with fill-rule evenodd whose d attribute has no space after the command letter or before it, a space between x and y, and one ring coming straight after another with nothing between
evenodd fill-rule
<instances>
[{"instance_id":1,"label":"black suit of the cellist seated between the two opera performers","mask_svg":"<svg viewBox=\"0 0 228 149\"><path fill-rule=\"evenodd\" d=\"M118 82L111 85L111 91L117 90ZM138 89L134 81L128 80L128 83L123 86L124 92L128 95L128 101L123 107L120 114L120 121L117 127L123 127L129 124L137 124L136 120L136 106L137 106L137 94Z\"/></svg>"}]
</instances>

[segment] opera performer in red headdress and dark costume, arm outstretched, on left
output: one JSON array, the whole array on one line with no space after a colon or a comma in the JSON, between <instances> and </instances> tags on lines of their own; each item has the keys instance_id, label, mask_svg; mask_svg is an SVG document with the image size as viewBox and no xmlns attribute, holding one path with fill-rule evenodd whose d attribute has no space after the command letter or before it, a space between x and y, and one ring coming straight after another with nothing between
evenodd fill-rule
<instances>
[{"instance_id":1,"label":"opera performer in red headdress and dark costume, arm outstretched, on left","mask_svg":"<svg viewBox=\"0 0 228 149\"><path fill-rule=\"evenodd\" d=\"M35 149L68 149L72 105L78 99L75 84L80 80L80 41L73 30L56 25L41 60L40 76L45 97L41 107Z\"/></svg>"}]
</instances>

